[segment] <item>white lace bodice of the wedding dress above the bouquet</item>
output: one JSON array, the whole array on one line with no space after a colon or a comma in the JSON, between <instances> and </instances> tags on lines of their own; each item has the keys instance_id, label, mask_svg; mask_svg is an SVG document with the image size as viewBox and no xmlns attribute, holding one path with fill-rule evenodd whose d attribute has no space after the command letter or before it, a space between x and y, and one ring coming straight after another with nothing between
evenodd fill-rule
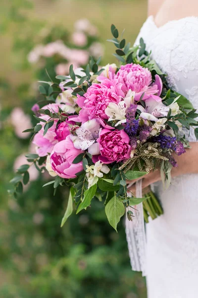
<instances>
[{"instance_id":1,"label":"white lace bodice of the wedding dress above the bouquet","mask_svg":"<svg viewBox=\"0 0 198 298\"><path fill-rule=\"evenodd\" d=\"M170 87L186 96L198 109L198 17L169 21L161 27L149 16L136 44L143 38L151 57L167 74ZM191 129L189 141L196 142Z\"/></svg>"}]
</instances>

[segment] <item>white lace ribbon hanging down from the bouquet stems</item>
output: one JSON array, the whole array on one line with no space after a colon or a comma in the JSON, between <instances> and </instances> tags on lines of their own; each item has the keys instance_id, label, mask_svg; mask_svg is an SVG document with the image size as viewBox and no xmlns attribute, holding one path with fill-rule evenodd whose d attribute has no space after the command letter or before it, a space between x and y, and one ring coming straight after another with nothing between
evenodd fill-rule
<instances>
[{"instance_id":1,"label":"white lace ribbon hanging down from the bouquet stems","mask_svg":"<svg viewBox=\"0 0 198 298\"><path fill-rule=\"evenodd\" d=\"M136 182L136 197L142 198L142 179ZM127 216L125 219L129 256L132 270L142 271L142 275L146 276L146 233L143 203L134 206L134 208L137 210L131 207L128 209L134 213L133 221L129 221Z\"/></svg>"}]
</instances>

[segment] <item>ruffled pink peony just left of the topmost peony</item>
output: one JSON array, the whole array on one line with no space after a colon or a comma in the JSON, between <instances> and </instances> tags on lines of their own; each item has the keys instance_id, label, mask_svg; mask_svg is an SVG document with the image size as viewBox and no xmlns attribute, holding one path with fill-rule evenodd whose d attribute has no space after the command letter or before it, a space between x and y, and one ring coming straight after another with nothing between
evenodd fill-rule
<instances>
[{"instance_id":1,"label":"ruffled pink peony just left of the topmost peony","mask_svg":"<svg viewBox=\"0 0 198 298\"><path fill-rule=\"evenodd\" d=\"M100 120L108 120L105 114L105 109L109 102L120 102L124 97L124 93L121 90L122 84L111 81L110 79L104 79L100 84L94 83L88 88L84 97L79 97L77 104L83 109L80 111L79 118L82 117L82 122L91 120L93 118L99 118ZM84 98L84 102L83 102ZM86 116L88 119L86 119Z\"/></svg>"}]
</instances>

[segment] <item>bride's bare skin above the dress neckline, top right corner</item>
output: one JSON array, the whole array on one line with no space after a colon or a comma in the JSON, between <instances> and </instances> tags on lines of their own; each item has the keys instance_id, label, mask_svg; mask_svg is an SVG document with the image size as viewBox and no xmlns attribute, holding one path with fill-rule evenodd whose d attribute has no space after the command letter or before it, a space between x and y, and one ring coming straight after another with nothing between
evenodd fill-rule
<instances>
[{"instance_id":1,"label":"bride's bare skin above the dress neckline, top right corner","mask_svg":"<svg viewBox=\"0 0 198 298\"><path fill-rule=\"evenodd\" d=\"M191 16L198 17L198 1L195 0L163 0L159 10L154 16L154 22L157 27L164 24L185 19Z\"/></svg>"}]
</instances>

